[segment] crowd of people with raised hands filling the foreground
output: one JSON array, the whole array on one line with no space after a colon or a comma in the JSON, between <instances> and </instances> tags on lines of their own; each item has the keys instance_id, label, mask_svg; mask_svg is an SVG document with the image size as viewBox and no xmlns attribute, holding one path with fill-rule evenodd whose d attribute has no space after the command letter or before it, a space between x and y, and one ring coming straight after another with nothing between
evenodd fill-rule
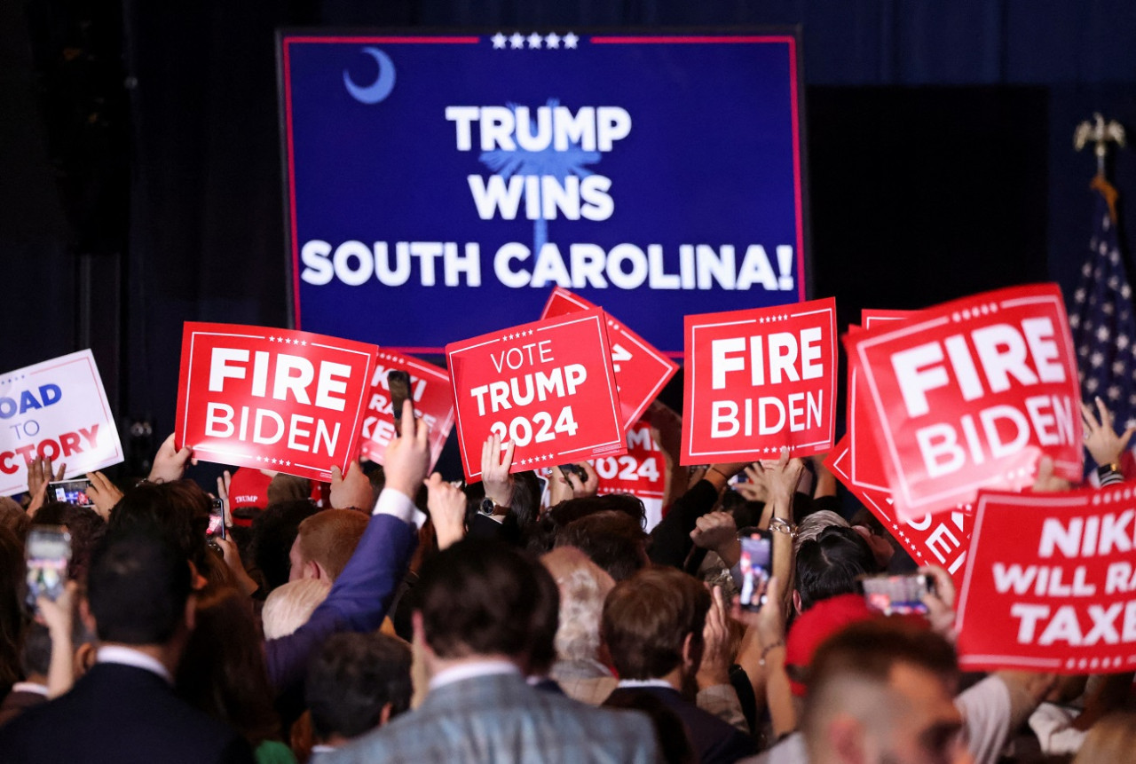
<instances>
[{"instance_id":1,"label":"crowd of people with raised hands filling the foreground","mask_svg":"<svg viewBox=\"0 0 1136 764\"><path fill-rule=\"evenodd\" d=\"M592 465L544 487L494 438L483 481L427 475L428 425L401 414L382 467L323 487L242 468L210 496L170 436L142 479L89 476L80 506L49 501L62 468L33 462L0 506L0 762L1136 758L1133 672L960 673L935 566L925 614L869 608L860 577L917 566L842 512L821 457L668 457L648 528ZM1084 417L1101 482L1122 479L1131 431ZM1051 468L1035 490L1068 487ZM67 584L30 603L40 526L69 534ZM759 591L740 576L754 531Z\"/></svg>"}]
</instances>

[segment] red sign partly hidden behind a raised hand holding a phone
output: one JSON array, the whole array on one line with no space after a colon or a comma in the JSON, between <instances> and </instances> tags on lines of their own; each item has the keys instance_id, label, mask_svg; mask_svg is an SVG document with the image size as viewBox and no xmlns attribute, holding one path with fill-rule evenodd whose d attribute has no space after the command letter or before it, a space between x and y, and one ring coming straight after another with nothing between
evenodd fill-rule
<instances>
[{"instance_id":1,"label":"red sign partly hidden behind a raised hand holding a phone","mask_svg":"<svg viewBox=\"0 0 1136 764\"><path fill-rule=\"evenodd\" d=\"M415 413L429 425L429 469L433 470L446 438L450 437L450 430L453 429L453 388L450 386L450 375L433 363L393 351L378 351L375 373L370 379L370 394L367 396L367 415L362 420L360 452L370 461L382 464L386 445L394 438L394 413L386 375L395 369L410 375L410 397L415 402Z\"/></svg>"}]
</instances>

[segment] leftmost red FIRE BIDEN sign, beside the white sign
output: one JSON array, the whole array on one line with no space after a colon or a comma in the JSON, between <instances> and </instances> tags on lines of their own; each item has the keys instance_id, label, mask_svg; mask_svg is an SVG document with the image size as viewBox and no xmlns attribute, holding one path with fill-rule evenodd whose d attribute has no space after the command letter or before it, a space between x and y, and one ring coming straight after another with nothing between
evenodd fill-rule
<instances>
[{"instance_id":1,"label":"leftmost red FIRE BIDEN sign, beside the white sign","mask_svg":"<svg viewBox=\"0 0 1136 764\"><path fill-rule=\"evenodd\" d=\"M358 454L377 352L308 331L186 322L174 439L206 461L329 480Z\"/></svg>"}]
</instances>

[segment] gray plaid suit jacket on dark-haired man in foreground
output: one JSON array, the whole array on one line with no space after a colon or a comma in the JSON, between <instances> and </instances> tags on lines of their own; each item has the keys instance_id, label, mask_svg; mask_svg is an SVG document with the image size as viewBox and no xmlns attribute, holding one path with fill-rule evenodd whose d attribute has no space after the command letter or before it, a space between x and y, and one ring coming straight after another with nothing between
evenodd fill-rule
<instances>
[{"instance_id":1,"label":"gray plaid suit jacket on dark-haired man in foreground","mask_svg":"<svg viewBox=\"0 0 1136 764\"><path fill-rule=\"evenodd\" d=\"M476 677L432 690L410 711L320 762L648 764L659 761L643 714L593 708L542 692L515 674Z\"/></svg>"}]
</instances>

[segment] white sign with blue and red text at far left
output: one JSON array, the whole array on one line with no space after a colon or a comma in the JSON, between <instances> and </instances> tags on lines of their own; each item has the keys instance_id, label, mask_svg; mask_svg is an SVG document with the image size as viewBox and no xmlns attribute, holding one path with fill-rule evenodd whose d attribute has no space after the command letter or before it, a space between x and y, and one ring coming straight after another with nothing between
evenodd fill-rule
<instances>
[{"instance_id":1,"label":"white sign with blue and red text at far left","mask_svg":"<svg viewBox=\"0 0 1136 764\"><path fill-rule=\"evenodd\" d=\"M65 477L123 461L118 429L91 351L61 355L0 376L0 495L27 490L33 459Z\"/></svg>"}]
</instances>

